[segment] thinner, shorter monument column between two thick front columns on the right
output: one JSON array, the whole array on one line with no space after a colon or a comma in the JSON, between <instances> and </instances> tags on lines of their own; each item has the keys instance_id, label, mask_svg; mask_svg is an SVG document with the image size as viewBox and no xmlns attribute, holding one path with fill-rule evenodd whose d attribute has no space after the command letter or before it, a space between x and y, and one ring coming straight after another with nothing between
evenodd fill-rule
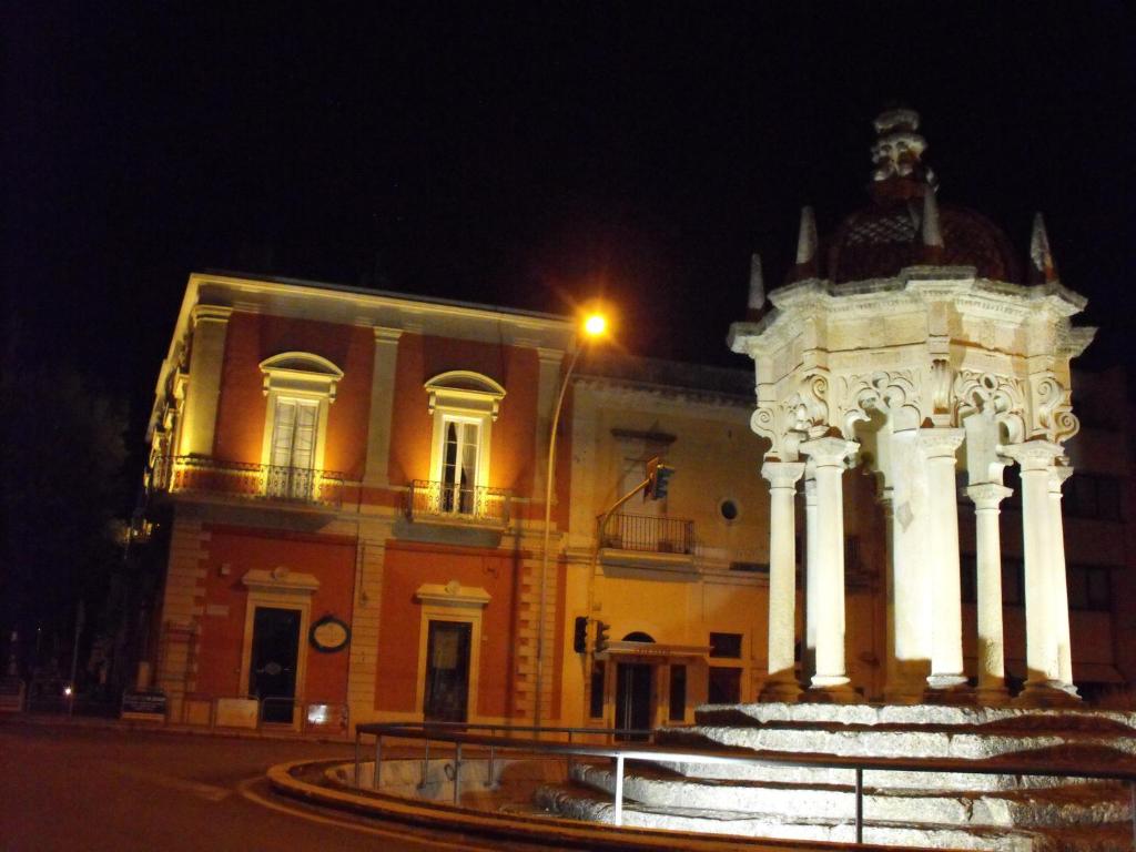
<instances>
[{"instance_id":1,"label":"thinner, shorter monument column between two thick front columns on the right","mask_svg":"<svg viewBox=\"0 0 1136 852\"><path fill-rule=\"evenodd\" d=\"M978 700L982 704L1004 704L1005 642L1002 634L1002 536L999 527L1001 502L1013 492L997 483L967 488L975 503L978 609Z\"/></svg>"}]
</instances>

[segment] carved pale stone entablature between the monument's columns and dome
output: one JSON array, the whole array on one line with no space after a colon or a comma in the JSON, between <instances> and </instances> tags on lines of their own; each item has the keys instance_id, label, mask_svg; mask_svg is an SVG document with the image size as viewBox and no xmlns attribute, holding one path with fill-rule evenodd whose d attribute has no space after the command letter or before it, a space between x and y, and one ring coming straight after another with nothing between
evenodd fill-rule
<instances>
[{"instance_id":1,"label":"carved pale stone entablature between the monument's columns and dome","mask_svg":"<svg viewBox=\"0 0 1136 852\"><path fill-rule=\"evenodd\" d=\"M992 411L1011 442L1077 432L1069 361L1094 329L1069 318L1085 300L1060 284L989 282L912 268L887 281L808 279L770 294L776 310L737 323L729 345L757 368L754 432L770 456L887 412L893 428L959 426Z\"/></svg>"}]
</instances>

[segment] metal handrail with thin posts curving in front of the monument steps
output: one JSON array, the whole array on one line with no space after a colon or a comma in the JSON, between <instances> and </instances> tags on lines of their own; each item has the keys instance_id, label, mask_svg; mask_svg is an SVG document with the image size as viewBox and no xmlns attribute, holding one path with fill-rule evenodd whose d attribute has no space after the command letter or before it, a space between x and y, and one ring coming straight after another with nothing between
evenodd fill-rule
<instances>
[{"instance_id":1,"label":"metal handrail with thin posts curving in front of the monument steps","mask_svg":"<svg viewBox=\"0 0 1136 852\"><path fill-rule=\"evenodd\" d=\"M996 758L993 761L964 760L959 758L930 758L913 759L903 758L844 758L825 757L817 754L778 754L762 753L754 754L744 749L722 749L715 752L699 752L693 749L678 746L641 745L628 743L624 745L585 745L573 742L558 742L553 740L513 740L510 737L483 736L479 734L466 734L454 728L475 728L490 730L518 730L535 733L590 733L607 734L650 734L657 730L620 730L610 728L534 728L531 726L511 725L466 725L462 722L371 722L356 727L356 750L354 750L354 786L361 788L360 782L360 755L362 753L362 736L375 737L375 770L373 774L371 787L379 787L379 765L382 761L383 737L400 737L404 740L441 740L454 744L454 767L453 767L453 803L458 804L459 780L461 771L461 746L482 745L490 749L490 771L492 772L493 751L498 747L516 749L524 751L535 751L540 753L588 758L611 758L616 763L616 788L615 788L615 825L621 826L624 818L624 767L625 761L653 760L670 761L675 763L721 763L721 765L749 765L749 766L791 766L812 769L850 769L855 772L855 842L863 843L863 772L864 770L889 770L900 772L964 772L974 775L1027 775L1046 776L1055 775L1068 778L1097 778L1102 780L1128 782L1131 797L1131 825L1133 843L1136 845L1136 769L1116 769L1104 766L1080 766L1080 767L1038 767L1036 763L1013 762ZM674 730L674 728L670 728ZM424 776L425 777L425 776Z\"/></svg>"}]
</instances>

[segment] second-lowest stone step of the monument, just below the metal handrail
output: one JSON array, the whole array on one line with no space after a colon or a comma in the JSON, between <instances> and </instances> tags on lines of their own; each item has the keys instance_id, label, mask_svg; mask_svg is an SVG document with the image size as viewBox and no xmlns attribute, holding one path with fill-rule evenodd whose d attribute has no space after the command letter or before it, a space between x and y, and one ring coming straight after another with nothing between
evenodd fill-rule
<instances>
[{"instance_id":1,"label":"second-lowest stone step of the monument, just below the metal handrail","mask_svg":"<svg viewBox=\"0 0 1136 852\"><path fill-rule=\"evenodd\" d=\"M607 795L615 794L615 774L608 765L576 763L573 780ZM855 815L851 786L790 783L747 784L691 780L669 772L636 767L624 777L624 796L650 808L740 811L777 815L783 819L840 821ZM1044 827L1091 825L1131 818L1128 790L1119 784L1080 785L1068 790L1011 793L895 792L868 787L863 813L891 822L935 822L953 826Z\"/></svg>"}]
</instances>

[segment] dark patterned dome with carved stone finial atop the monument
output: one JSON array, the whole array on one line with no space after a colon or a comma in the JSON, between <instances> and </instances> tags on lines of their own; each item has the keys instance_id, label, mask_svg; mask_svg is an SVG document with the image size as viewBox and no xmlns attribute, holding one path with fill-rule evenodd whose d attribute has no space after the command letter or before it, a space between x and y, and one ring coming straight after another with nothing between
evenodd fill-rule
<instances>
[{"instance_id":1,"label":"dark patterned dome with carved stone finial atop the monument","mask_svg":"<svg viewBox=\"0 0 1136 852\"><path fill-rule=\"evenodd\" d=\"M908 266L972 266L980 277L1020 281L1006 235L982 214L939 206L937 179L922 161L919 115L893 109L875 122L871 203L841 223L828 243L835 282L892 277ZM820 258L818 258L820 260Z\"/></svg>"}]
</instances>

